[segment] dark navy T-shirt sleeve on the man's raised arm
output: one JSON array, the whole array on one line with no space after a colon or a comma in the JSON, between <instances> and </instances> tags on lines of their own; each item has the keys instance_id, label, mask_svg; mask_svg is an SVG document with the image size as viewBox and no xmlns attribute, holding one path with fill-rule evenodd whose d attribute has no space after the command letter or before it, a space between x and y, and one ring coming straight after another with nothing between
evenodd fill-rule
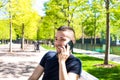
<instances>
[{"instance_id":1,"label":"dark navy T-shirt sleeve on the man's raised arm","mask_svg":"<svg viewBox=\"0 0 120 80\"><path fill-rule=\"evenodd\" d=\"M72 62L72 66L71 66L69 72L73 72L75 74L81 75L82 63L79 59L76 59L75 61Z\"/></svg>"}]
</instances>

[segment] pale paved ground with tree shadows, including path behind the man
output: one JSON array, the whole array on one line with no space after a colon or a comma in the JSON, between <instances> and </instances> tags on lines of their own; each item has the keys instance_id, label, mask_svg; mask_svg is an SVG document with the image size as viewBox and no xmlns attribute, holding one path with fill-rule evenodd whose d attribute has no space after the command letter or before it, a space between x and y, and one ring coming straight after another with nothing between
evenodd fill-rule
<instances>
[{"instance_id":1,"label":"pale paved ground with tree shadows, including path behind the man","mask_svg":"<svg viewBox=\"0 0 120 80\"><path fill-rule=\"evenodd\" d=\"M33 45L25 45L23 52L20 50L20 44L13 44L13 53L9 53L9 45L0 45L0 80L27 80L42 56L47 52L42 47L40 49L40 52L35 52ZM81 49L74 49L74 52L104 58L103 53ZM113 54L109 56L110 60L120 63L120 56Z\"/></svg>"}]
</instances>

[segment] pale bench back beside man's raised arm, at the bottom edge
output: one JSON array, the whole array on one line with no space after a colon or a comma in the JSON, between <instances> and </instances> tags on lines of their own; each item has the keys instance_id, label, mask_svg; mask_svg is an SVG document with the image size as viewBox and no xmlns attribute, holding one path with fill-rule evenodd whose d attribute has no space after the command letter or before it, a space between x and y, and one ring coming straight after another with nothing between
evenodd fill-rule
<instances>
[{"instance_id":1,"label":"pale bench back beside man's raised arm, at the bottom edge","mask_svg":"<svg viewBox=\"0 0 120 80\"><path fill-rule=\"evenodd\" d=\"M79 80L99 80L99 79L91 75L90 73L82 70L81 77Z\"/></svg>"}]
</instances>

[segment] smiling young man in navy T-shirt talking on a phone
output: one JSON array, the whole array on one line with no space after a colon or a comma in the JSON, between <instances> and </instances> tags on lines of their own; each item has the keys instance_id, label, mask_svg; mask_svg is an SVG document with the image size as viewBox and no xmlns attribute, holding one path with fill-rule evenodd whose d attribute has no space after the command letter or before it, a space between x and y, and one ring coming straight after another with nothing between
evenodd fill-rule
<instances>
[{"instance_id":1,"label":"smiling young man in navy T-shirt talking on a phone","mask_svg":"<svg viewBox=\"0 0 120 80\"><path fill-rule=\"evenodd\" d=\"M71 27L61 26L55 35L56 52L47 52L34 70L29 80L78 80L81 74L81 61L72 55L67 43L75 43L75 32Z\"/></svg>"}]
</instances>

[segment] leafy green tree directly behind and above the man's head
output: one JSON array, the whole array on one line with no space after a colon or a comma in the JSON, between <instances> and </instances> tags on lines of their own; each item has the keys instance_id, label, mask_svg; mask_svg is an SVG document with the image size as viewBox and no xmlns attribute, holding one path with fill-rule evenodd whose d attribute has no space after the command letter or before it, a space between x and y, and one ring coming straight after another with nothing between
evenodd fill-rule
<instances>
[{"instance_id":1,"label":"leafy green tree directly behind and above the man's head","mask_svg":"<svg viewBox=\"0 0 120 80\"><path fill-rule=\"evenodd\" d=\"M76 37L77 39L80 38L80 28L78 27L80 25L77 24L77 22L82 22L78 20L78 17L76 17L76 13L78 12L79 8L81 8L86 3L87 0L81 1L81 0L62 0L62 1L56 1L56 0L50 0L50 2L45 4L45 10L46 10L46 17L48 17L46 20L49 21L48 25L49 27L53 27L51 29L55 29L61 25L68 25L76 30ZM76 23L76 24L75 24ZM46 25L46 24L45 24ZM55 30L54 30L55 32Z\"/></svg>"}]
</instances>

